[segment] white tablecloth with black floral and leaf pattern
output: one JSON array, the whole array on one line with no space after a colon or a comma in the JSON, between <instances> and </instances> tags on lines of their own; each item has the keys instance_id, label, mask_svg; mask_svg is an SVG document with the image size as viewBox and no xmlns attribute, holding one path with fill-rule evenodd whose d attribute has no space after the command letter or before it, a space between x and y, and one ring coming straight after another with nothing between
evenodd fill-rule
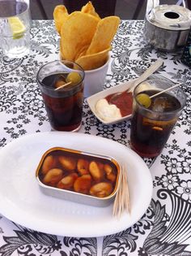
<instances>
[{"instance_id":1,"label":"white tablecloth with black floral and leaf pattern","mask_svg":"<svg viewBox=\"0 0 191 256\"><path fill-rule=\"evenodd\" d=\"M180 62L181 52L166 54L146 45L143 21L121 21L112 43L112 62L105 88L140 76L156 59L156 72L181 85L187 104L162 154L151 166L154 193L146 213L134 226L111 236L80 238L29 230L0 215L0 254L24 255L191 255L191 71ZM6 59L0 52L0 146L32 132L50 130L36 84L40 65L58 59L59 37L53 21L33 21L32 51L23 59ZM153 75L156 76L156 75ZM107 137L129 146L130 121L107 126L83 108L79 132Z\"/></svg>"}]
</instances>

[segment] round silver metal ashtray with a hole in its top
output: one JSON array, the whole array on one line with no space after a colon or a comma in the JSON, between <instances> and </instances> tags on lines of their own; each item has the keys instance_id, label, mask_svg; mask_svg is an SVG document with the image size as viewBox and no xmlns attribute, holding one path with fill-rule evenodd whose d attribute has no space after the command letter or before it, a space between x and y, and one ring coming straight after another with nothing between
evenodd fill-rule
<instances>
[{"instance_id":1,"label":"round silver metal ashtray with a hole in its top","mask_svg":"<svg viewBox=\"0 0 191 256\"><path fill-rule=\"evenodd\" d=\"M147 8L144 38L156 49L175 51L185 46L191 26L191 11L177 5Z\"/></svg>"}]
</instances>

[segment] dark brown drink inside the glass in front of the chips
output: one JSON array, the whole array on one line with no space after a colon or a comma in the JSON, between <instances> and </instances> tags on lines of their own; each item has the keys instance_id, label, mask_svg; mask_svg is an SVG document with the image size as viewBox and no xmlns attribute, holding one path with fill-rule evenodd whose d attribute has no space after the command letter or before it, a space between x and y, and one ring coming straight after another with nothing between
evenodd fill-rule
<instances>
[{"instance_id":1,"label":"dark brown drink inside the glass in front of the chips","mask_svg":"<svg viewBox=\"0 0 191 256\"><path fill-rule=\"evenodd\" d=\"M62 82L66 73L46 76L42 84L42 97L53 129L57 131L75 131L80 128L83 114L83 81L79 85L67 85L63 89L55 90L57 83Z\"/></svg>"}]
</instances>

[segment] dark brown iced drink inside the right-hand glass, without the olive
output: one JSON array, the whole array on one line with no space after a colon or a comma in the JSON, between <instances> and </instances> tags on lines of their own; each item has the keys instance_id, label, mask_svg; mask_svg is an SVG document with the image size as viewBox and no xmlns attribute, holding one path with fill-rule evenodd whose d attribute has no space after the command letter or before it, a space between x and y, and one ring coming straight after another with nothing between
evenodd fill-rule
<instances>
[{"instance_id":1,"label":"dark brown iced drink inside the right-hand glass, without the olive","mask_svg":"<svg viewBox=\"0 0 191 256\"><path fill-rule=\"evenodd\" d=\"M159 93L159 90L151 89L141 93L151 96ZM136 103L131 122L131 148L143 157L159 155L176 124L180 110L179 100L170 93L151 98L147 108Z\"/></svg>"}]
</instances>

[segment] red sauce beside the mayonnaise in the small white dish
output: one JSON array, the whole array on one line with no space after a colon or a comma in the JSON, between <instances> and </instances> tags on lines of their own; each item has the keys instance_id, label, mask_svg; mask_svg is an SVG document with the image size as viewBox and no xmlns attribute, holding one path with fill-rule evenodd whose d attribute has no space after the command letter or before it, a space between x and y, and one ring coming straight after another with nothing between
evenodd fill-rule
<instances>
[{"instance_id":1,"label":"red sauce beside the mayonnaise in the small white dish","mask_svg":"<svg viewBox=\"0 0 191 256\"><path fill-rule=\"evenodd\" d=\"M109 94L107 97L105 97L105 99L108 102L110 102L110 99L112 98L113 94L114 93ZM132 114L132 110L133 110L132 93L126 93L126 92L121 93L121 95L119 95L119 97L113 98L110 103L116 105L120 109L122 116Z\"/></svg>"}]
</instances>

